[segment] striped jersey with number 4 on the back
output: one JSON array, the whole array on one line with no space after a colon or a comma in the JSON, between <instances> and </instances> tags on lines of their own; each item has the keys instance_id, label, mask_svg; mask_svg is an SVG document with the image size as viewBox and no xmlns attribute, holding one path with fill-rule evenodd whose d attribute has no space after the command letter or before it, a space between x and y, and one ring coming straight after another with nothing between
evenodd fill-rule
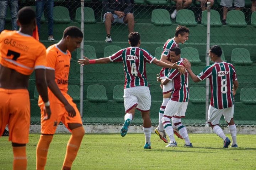
<instances>
[{"instance_id":1,"label":"striped jersey with number 4 on the back","mask_svg":"<svg viewBox=\"0 0 256 170\"><path fill-rule=\"evenodd\" d=\"M139 47L128 47L109 57L112 62L124 64L124 89L135 86L148 86L146 62L151 63L155 57Z\"/></svg>"}]
</instances>

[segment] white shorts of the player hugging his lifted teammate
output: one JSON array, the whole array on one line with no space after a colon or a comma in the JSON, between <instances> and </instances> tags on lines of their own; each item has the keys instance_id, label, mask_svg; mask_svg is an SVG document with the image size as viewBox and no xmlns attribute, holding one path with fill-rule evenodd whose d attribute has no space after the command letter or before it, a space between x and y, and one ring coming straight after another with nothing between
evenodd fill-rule
<instances>
[{"instance_id":1,"label":"white shorts of the player hugging his lifted teammate","mask_svg":"<svg viewBox=\"0 0 256 170\"><path fill-rule=\"evenodd\" d=\"M188 102L176 102L169 100L164 115L175 118L184 118L187 110Z\"/></svg>"}]
</instances>

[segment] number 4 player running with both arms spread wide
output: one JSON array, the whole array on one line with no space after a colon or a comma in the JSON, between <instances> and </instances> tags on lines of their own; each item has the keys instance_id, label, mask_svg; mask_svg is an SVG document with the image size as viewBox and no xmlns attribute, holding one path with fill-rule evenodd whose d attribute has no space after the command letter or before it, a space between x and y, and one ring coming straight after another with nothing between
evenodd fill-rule
<instances>
[{"instance_id":1,"label":"number 4 player running with both arms spread wide","mask_svg":"<svg viewBox=\"0 0 256 170\"><path fill-rule=\"evenodd\" d=\"M124 64L124 108L126 114L124 116L124 124L121 129L121 136L127 134L129 125L134 117L135 109L141 112L143 119L143 131L145 134L145 149L150 149L151 120L149 117L151 96L149 92L149 84L146 78L146 62L154 63L160 67L184 69L184 66L176 64L167 64L157 60L146 50L140 49L140 34L132 32L128 35L130 47L122 49L112 56L100 58L97 60L79 60L78 63L84 64L103 64L109 62L123 62Z\"/></svg>"}]
</instances>

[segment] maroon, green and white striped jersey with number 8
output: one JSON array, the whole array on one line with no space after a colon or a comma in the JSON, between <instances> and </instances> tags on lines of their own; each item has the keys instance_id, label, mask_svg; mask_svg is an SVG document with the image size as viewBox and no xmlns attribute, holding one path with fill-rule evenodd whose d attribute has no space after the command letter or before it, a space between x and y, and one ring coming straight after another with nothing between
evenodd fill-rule
<instances>
[{"instance_id":1,"label":"maroon, green and white striped jersey with number 8","mask_svg":"<svg viewBox=\"0 0 256 170\"><path fill-rule=\"evenodd\" d=\"M233 81L237 80L232 64L222 62L207 66L197 75L200 80L208 78L211 86L210 105L217 109L232 107L234 104Z\"/></svg>"}]
</instances>

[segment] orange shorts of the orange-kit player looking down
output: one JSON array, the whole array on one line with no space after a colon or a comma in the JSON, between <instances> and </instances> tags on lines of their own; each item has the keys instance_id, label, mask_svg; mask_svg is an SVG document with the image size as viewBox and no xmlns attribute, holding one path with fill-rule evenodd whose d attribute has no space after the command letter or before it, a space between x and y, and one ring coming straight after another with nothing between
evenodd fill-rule
<instances>
[{"instance_id":1,"label":"orange shorts of the orange-kit player looking down","mask_svg":"<svg viewBox=\"0 0 256 170\"><path fill-rule=\"evenodd\" d=\"M68 116L68 112L66 111L62 102L48 89L48 98L50 102L50 110L52 112L50 119L43 120L44 117L44 102L42 98L39 96L38 106L41 109L41 134L54 134L57 128L57 125L62 121L62 123L68 128L69 123L80 123L82 124L82 120L80 117L80 113L76 104L73 102L72 98L66 93L62 91L63 96L69 102L71 106L74 107L76 111L75 117L71 118ZM69 131L71 131L68 128Z\"/></svg>"}]
</instances>

